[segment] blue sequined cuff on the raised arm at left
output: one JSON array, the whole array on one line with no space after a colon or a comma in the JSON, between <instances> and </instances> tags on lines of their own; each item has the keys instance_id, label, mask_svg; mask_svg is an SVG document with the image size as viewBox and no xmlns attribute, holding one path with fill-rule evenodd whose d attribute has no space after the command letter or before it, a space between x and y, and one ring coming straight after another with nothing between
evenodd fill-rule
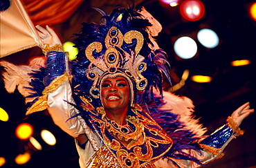
<instances>
[{"instance_id":1,"label":"blue sequined cuff on the raised arm at left","mask_svg":"<svg viewBox=\"0 0 256 168\"><path fill-rule=\"evenodd\" d=\"M65 53L50 51L47 54L44 86L48 86L58 76L66 71Z\"/></svg>"}]
</instances>

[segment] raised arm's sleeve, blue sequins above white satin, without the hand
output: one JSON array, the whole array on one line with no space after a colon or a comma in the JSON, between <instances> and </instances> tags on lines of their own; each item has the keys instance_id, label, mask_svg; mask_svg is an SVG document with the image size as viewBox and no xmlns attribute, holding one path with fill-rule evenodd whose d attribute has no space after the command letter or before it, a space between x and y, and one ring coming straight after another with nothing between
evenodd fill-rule
<instances>
[{"instance_id":1,"label":"raised arm's sleeve, blue sequins above white satin, without the hand","mask_svg":"<svg viewBox=\"0 0 256 168\"><path fill-rule=\"evenodd\" d=\"M79 120L71 118L78 111L72 105L75 102L73 101L68 75L63 77L68 69L66 67L66 56L63 52L50 51L46 57L44 85L50 88L56 87L55 91L48 93L48 112L57 126L70 136L76 138L81 133L84 133L84 131Z\"/></svg>"}]
</instances>

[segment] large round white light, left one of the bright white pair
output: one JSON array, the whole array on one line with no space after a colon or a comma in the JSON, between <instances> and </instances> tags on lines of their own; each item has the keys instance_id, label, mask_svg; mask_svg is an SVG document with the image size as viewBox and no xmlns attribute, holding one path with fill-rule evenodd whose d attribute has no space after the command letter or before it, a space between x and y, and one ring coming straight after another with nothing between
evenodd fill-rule
<instances>
[{"instance_id":1,"label":"large round white light, left one of the bright white pair","mask_svg":"<svg viewBox=\"0 0 256 168\"><path fill-rule=\"evenodd\" d=\"M174 43L174 51L179 57L190 59L196 55L196 42L190 37L180 37Z\"/></svg>"}]
</instances>

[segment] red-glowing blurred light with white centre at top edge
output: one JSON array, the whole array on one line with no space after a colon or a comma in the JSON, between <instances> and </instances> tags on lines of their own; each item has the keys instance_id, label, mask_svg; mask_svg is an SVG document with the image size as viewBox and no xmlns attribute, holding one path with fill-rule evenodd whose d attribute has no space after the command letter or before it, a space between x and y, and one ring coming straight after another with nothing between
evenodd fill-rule
<instances>
[{"instance_id":1,"label":"red-glowing blurred light with white centre at top edge","mask_svg":"<svg viewBox=\"0 0 256 168\"><path fill-rule=\"evenodd\" d=\"M201 1L183 1L180 7L181 16L188 21L197 21L205 14L205 8Z\"/></svg>"}]
</instances>

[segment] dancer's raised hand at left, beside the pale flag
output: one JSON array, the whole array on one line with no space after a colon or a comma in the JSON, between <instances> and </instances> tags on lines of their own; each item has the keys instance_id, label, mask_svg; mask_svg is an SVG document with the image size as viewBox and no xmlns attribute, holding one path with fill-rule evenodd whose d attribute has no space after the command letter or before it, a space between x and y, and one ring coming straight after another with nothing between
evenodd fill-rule
<instances>
[{"instance_id":1,"label":"dancer's raised hand at left, beside the pale flag","mask_svg":"<svg viewBox=\"0 0 256 168\"><path fill-rule=\"evenodd\" d=\"M46 29L39 25L35 27L37 28L37 32L41 37L43 44L49 44L50 47L55 46L55 44L62 45L62 42L60 41L59 37L56 35L54 30L50 28L48 25L46 26Z\"/></svg>"}]
</instances>

